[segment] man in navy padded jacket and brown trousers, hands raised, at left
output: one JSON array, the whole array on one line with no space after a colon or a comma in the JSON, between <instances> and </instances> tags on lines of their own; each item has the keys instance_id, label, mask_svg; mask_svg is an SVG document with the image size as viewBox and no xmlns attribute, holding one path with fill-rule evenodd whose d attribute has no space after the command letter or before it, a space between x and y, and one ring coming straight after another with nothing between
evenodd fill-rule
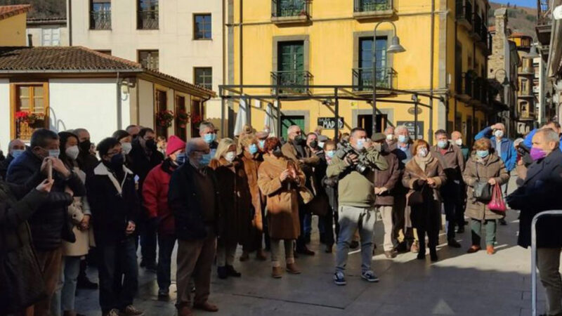
<instances>
[{"instance_id":1,"label":"man in navy padded jacket and brown trousers, hands raised, at left","mask_svg":"<svg viewBox=\"0 0 562 316\"><path fill-rule=\"evenodd\" d=\"M58 159L59 146L57 133L37 129L31 136L30 148L10 164L6 175L8 183L23 185L41 170L46 157L53 157L55 183L48 194L48 202L42 204L29 220L33 246L45 276L47 294L43 301L34 306L37 315L48 315L51 309L51 297L59 281L63 263L63 239L75 241L68 224L67 206L72 203L73 196L81 197L86 194L84 184L77 174L68 170Z\"/></svg>"}]
</instances>

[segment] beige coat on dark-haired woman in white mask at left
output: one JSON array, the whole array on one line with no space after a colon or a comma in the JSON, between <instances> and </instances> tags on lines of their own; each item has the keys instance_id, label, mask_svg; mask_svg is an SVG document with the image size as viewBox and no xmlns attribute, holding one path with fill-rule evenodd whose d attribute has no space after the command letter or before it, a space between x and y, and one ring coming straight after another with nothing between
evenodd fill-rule
<instances>
[{"instance_id":1,"label":"beige coat on dark-haired woman in white mask at left","mask_svg":"<svg viewBox=\"0 0 562 316\"><path fill-rule=\"evenodd\" d=\"M74 167L74 172L77 173L82 183L86 182L86 173L77 167ZM74 202L68 206L68 215L73 225L72 232L76 236L76 242L70 243L63 240L63 256L86 256L93 244L93 229L79 230L80 222L85 215L91 216L90 205L86 197L74 197ZM90 224L93 223L90 220Z\"/></svg>"}]
</instances>

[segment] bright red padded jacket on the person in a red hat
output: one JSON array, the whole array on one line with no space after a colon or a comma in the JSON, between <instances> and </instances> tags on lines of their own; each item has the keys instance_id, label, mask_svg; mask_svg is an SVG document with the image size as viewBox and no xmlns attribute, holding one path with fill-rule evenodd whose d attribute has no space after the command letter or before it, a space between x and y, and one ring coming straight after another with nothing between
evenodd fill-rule
<instances>
[{"instance_id":1,"label":"bright red padded jacket on the person in a red hat","mask_svg":"<svg viewBox=\"0 0 562 316\"><path fill-rule=\"evenodd\" d=\"M174 235L176 223L174 215L168 206L168 187L174 166L170 159L164 160L162 164L155 166L143 184L144 206L148 211L149 218L158 218L158 232L160 234Z\"/></svg>"}]
</instances>

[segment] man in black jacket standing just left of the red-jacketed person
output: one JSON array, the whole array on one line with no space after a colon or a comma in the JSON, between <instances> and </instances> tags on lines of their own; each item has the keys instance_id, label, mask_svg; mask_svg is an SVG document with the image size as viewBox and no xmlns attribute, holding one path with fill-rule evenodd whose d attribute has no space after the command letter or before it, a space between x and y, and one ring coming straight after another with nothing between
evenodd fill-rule
<instances>
[{"instance_id":1,"label":"man in black jacket standing just left of the red-jacketed person","mask_svg":"<svg viewBox=\"0 0 562 316\"><path fill-rule=\"evenodd\" d=\"M129 153L131 157L131 169L138 176L138 196L143 196L143 183L150 170L158 166L164 160L164 155L156 147L156 134L152 129L144 128L138 133L136 140L133 140L133 149ZM150 219L148 211L143 209L141 213L141 267L156 271L156 218Z\"/></svg>"}]
</instances>

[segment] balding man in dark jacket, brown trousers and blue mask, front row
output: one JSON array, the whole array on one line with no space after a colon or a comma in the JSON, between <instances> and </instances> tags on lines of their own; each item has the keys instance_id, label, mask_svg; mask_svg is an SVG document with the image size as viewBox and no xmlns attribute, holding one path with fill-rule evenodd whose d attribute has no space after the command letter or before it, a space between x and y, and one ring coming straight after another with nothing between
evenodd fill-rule
<instances>
[{"instance_id":1,"label":"balding man in dark jacket, brown trousers and blue mask, front row","mask_svg":"<svg viewBox=\"0 0 562 316\"><path fill-rule=\"evenodd\" d=\"M195 282L193 308L218 311L207 301L221 207L215 173L204 159L209 152L203 138L192 138L185 149L189 161L176 169L170 180L168 204L176 218L178 237L178 316L192 315L190 279Z\"/></svg>"}]
</instances>

